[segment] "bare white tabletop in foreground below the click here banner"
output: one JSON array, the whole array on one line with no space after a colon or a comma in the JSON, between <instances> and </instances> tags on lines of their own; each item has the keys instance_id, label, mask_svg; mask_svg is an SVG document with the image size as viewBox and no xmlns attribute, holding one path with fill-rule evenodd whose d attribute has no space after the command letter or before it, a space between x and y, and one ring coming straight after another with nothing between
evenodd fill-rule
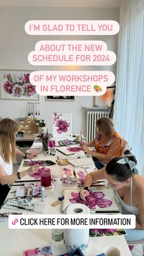
<instances>
[{"instance_id":1,"label":"bare white tabletop in foreground below the click here banner","mask_svg":"<svg viewBox=\"0 0 144 256\"><path fill-rule=\"evenodd\" d=\"M23 250L33 249L51 243L51 230L29 229L13 230L9 229L7 224L1 223L0 233L0 255L1 256L20 256ZM85 256L95 256L103 252L106 246L116 246L121 251L121 256L131 256L128 244L124 236L105 236L101 238L89 238L88 248ZM54 255L60 255L67 252L63 246L52 247Z\"/></svg>"}]
</instances>

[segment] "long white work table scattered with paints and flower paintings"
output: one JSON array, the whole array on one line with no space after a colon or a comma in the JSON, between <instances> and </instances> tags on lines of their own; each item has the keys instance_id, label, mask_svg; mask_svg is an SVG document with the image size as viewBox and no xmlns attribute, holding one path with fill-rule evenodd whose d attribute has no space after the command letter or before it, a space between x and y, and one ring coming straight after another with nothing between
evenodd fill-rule
<instances>
[{"instance_id":1,"label":"long white work table scattered with paints and flower paintings","mask_svg":"<svg viewBox=\"0 0 144 256\"><path fill-rule=\"evenodd\" d=\"M35 160L51 160L56 163L56 165L49 167L53 174L62 174L62 167L58 166L56 159L57 155L60 155L60 153L56 152L55 156L43 156L43 154L38 155ZM65 158L65 156L63 156ZM22 167L23 161L21 163L20 169L24 170L27 168ZM68 167L68 166L67 166ZM93 167L94 164L93 164ZM30 180L31 177L27 176L21 179L23 180ZM18 184L18 183L14 183ZM15 197L15 193L13 191L16 191L16 188L18 186L12 186L10 189L10 192L7 196L7 198ZM67 187L66 187L67 188ZM72 188L72 187L71 187ZM76 188L76 186L73 186L73 188ZM60 203L57 205L57 207L52 207L51 203L57 200L57 196L54 196L54 191L52 186L48 189L45 189L45 202L43 202L43 205L45 205L45 212L44 214L60 214L62 210L62 204ZM41 198L32 199L33 202L42 203ZM6 210L4 208L1 209L0 213L4 212L22 212L20 209L14 208L12 210ZM30 211L23 211L23 214L37 214ZM51 230L46 229L27 229L27 230L14 230L9 229L8 222L0 222L0 256L20 256L22 255L23 250L27 249L34 249L35 247L43 246L46 243L51 244ZM103 252L104 247L106 246L116 246L121 251L121 256L131 256L131 252L129 251L128 244L126 243L126 240L124 236L103 236L103 237L95 237L95 238L89 238L88 240L88 248L85 256L94 256L97 254L100 254ZM66 253L68 250L67 248L63 246L54 247L52 246L52 250L54 252L54 255L60 255L63 253Z\"/></svg>"}]
</instances>

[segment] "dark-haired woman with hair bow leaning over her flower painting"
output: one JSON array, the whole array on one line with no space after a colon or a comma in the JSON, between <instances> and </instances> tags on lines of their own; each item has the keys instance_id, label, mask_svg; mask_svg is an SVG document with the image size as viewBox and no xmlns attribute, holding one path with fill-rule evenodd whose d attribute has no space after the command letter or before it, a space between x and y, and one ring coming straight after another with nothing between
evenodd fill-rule
<instances>
[{"instance_id":1,"label":"dark-haired woman with hair bow leaning over her flower painting","mask_svg":"<svg viewBox=\"0 0 144 256\"><path fill-rule=\"evenodd\" d=\"M82 200L88 196L88 188L93 181L107 179L107 185L116 189L116 196L121 203L123 214L135 214L135 229L127 229L127 241L144 238L144 178L137 174L135 157L128 152L123 158L113 158L106 167L92 172L85 177L84 189L79 196Z\"/></svg>"}]
</instances>

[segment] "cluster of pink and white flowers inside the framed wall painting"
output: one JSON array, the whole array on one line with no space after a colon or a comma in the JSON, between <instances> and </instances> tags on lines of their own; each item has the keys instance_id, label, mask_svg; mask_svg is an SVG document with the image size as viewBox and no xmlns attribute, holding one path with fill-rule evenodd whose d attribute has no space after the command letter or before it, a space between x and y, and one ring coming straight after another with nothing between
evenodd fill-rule
<instances>
[{"instance_id":1,"label":"cluster of pink and white flowers inside the framed wall painting","mask_svg":"<svg viewBox=\"0 0 144 256\"><path fill-rule=\"evenodd\" d=\"M4 74L6 81L3 84L4 91L13 97L31 97L36 93L35 86L29 81L29 73L26 74Z\"/></svg>"}]
</instances>

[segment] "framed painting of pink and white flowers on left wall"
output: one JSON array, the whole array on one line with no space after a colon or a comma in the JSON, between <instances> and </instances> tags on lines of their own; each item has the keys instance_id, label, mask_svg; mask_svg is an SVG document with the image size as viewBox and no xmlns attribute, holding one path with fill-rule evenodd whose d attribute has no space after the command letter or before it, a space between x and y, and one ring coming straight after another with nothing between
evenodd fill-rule
<instances>
[{"instance_id":1,"label":"framed painting of pink and white flowers on left wall","mask_svg":"<svg viewBox=\"0 0 144 256\"><path fill-rule=\"evenodd\" d=\"M29 70L0 70L1 99L38 100L35 86L29 81Z\"/></svg>"}]
</instances>

